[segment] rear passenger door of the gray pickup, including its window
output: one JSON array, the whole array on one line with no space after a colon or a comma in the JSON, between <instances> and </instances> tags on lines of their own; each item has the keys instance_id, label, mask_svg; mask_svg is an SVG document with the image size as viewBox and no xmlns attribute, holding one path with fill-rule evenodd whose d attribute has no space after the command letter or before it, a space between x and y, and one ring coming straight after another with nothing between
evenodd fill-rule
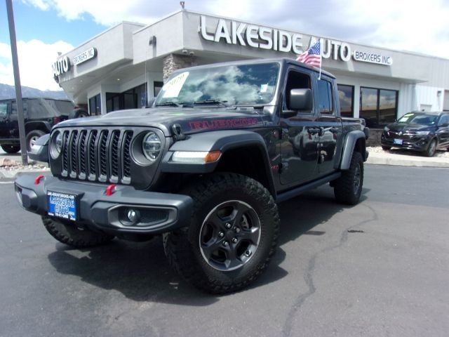
<instances>
[{"instance_id":1,"label":"rear passenger door of the gray pickup, including its window","mask_svg":"<svg viewBox=\"0 0 449 337\"><path fill-rule=\"evenodd\" d=\"M342 119L333 91L334 80L326 75L317 79L316 102L319 110L318 125L321 129L318 144L318 171L320 175L335 170L337 140L342 135Z\"/></svg>"}]
</instances>

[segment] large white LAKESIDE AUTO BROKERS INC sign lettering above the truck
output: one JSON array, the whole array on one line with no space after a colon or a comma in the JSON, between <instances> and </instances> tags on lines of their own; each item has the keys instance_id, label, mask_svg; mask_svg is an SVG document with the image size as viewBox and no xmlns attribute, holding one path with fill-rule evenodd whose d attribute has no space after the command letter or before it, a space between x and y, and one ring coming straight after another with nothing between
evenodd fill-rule
<instances>
[{"instance_id":1,"label":"large white LAKESIDE AUTO BROKERS INC sign lettering above the truck","mask_svg":"<svg viewBox=\"0 0 449 337\"><path fill-rule=\"evenodd\" d=\"M225 41L227 44L282 51L283 53L300 54L303 52L304 37L302 34L225 19L218 19L217 25L210 28L207 25L205 15L200 16L199 33L207 41ZM316 41L316 37L310 37L306 46L312 46ZM363 51L353 52L351 46L345 42L322 38L321 56L343 62L348 62L352 56L356 61L378 65L391 65L393 63L391 57L387 55Z\"/></svg>"}]
</instances>

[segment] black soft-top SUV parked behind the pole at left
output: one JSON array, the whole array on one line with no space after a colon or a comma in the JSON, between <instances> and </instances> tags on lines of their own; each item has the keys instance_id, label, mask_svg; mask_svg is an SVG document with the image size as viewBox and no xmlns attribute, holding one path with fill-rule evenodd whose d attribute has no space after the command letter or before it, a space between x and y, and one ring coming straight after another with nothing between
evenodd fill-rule
<instances>
[{"instance_id":1,"label":"black soft-top SUV parked behind the pole at left","mask_svg":"<svg viewBox=\"0 0 449 337\"><path fill-rule=\"evenodd\" d=\"M69 100L51 98L23 98L27 151L37 138L69 117L74 105ZM15 99L0 100L0 145L7 153L20 150L17 103Z\"/></svg>"}]
</instances>

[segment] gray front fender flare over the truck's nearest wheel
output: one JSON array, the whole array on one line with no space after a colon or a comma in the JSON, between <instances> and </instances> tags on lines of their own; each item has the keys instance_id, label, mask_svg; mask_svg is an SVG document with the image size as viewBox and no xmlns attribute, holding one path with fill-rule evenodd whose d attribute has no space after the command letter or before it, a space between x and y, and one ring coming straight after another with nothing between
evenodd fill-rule
<instances>
[{"instance_id":1,"label":"gray front fender flare over the truck's nearest wheel","mask_svg":"<svg viewBox=\"0 0 449 337\"><path fill-rule=\"evenodd\" d=\"M237 147L255 146L260 150L264 162L264 174L269 183L269 192L276 195L274 188L274 178L270 169L270 161L267 146L259 133L245 130L220 130L196 133L188 136L185 140L174 143L161 162L161 172L163 173L212 173L215 171L220 159L207 164L186 164L177 163L171 160L176 151L217 151L222 154Z\"/></svg>"}]
</instances>

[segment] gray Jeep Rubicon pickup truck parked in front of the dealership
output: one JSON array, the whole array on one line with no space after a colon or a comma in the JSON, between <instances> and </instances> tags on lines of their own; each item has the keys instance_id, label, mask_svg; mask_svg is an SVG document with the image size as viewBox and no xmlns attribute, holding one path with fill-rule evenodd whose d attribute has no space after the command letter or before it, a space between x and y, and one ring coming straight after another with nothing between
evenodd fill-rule
<instances>
[{"instance_id":1,"label":"gray Jeep Rubicon pickup truck parked in front of the dealership","mask_svg":"<svg viewBox=\"0 0 449 337\"><path fill-rule=\"evenodd\" d=\"M160 235L187 282L229 293L267 268L277 203L326 183L358 202L367 132L340 117L328 72L289 59L192 67L151 108L54 126L33 152L51 176L20 176L15 192L64 244Z\"/></svg>"}]
</instances>

